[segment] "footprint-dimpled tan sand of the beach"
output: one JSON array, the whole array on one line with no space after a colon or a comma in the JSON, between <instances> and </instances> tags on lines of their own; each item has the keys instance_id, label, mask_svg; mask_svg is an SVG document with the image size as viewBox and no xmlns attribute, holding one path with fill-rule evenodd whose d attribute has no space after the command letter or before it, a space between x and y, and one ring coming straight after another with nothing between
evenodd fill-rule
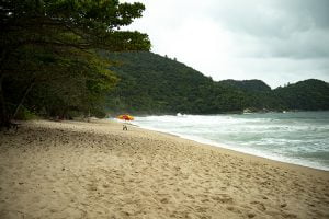
<instances>
[{"instance_id":1,"label":"footprint-dimpled tan sand of the beach","mask_svg":"<svg viewBox=\"0 0 329 219\"><path fill-rule=\"evenodd\" d=\"M128 128L0 132L0 218L329 218L329 172Z\"/></svg>"}]
</instances>

